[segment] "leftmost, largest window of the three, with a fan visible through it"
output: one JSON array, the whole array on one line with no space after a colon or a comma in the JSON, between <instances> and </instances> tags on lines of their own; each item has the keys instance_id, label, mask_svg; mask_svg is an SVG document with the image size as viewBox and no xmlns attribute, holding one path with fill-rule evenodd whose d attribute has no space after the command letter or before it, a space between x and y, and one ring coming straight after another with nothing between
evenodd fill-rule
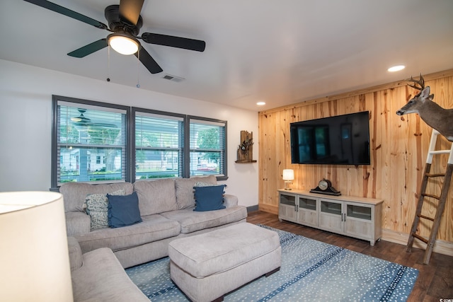
<instances>
[{"instance_id":1,"label":"leftmost, largest window of the three, with a fan visible through it","mask_svg":"<svg viewBox=\"0 0 453 302\"><path fill-rule=\"evenodd\" d=\"M52 187L63 182L127 181L125 106L54 95Z\"/></svg>"}]
</instances>

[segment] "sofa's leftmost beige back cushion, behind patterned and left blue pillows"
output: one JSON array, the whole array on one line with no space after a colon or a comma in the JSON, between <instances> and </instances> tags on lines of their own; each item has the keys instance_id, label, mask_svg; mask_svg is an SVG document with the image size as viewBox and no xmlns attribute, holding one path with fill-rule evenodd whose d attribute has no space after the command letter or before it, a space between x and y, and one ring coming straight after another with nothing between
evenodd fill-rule
<instances>
[{"instance_id":1,"label":"sofa's leftmost beige back cushion, behind patterned and left blue pillows","mask_svg":"<svg viewBox=\"0 0 453 302\"><path fill-rule=\"evenodd\" d=\"M111 185L91 185L89 183L66 182L59 187L64 197L64 211L84 211L86 195L101 193L107 194L117 190L124 190L125 194L132 194L134 187L130 182L117 182Z\"/></svg>"}]
</instances>

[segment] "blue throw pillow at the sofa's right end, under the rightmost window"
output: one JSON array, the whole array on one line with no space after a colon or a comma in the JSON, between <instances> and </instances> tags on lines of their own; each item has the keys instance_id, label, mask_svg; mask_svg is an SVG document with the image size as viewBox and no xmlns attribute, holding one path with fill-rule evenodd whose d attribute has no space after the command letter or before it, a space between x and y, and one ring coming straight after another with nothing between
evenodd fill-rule
<instances>
[{"instance_id":1,"label":"blue throw pillow at the sofa's right end, under the rightmost window","mask_svg":"<svg viewBox=\"0 0 453 302\"><path fill-rule=\"evenodd\" d=\"M194 211L213 211L225 209L225 185L211 185L209 187L193 187L195 189Z\"/></svg>"}]
</instances>

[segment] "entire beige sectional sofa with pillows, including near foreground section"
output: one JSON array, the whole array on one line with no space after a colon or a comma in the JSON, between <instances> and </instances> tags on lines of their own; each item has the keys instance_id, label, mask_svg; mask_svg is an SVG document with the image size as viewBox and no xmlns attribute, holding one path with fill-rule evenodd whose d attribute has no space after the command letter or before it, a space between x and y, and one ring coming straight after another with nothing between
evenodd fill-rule
<instances>
[{"instance_id":1,"label":"entire beige sectional sofa with pillows, including near foreground section","mask_svg":"<svg viewBox=\"0 0 453 302\"><path fill-rule=\"evenodd\" d=\"M123 268L167 256L176 238L246 221L246 207L219 187L214 176L62 185L74 301L149 301ZM121 199L118 216L108 207Z\"/></svg>"}]
</instances>

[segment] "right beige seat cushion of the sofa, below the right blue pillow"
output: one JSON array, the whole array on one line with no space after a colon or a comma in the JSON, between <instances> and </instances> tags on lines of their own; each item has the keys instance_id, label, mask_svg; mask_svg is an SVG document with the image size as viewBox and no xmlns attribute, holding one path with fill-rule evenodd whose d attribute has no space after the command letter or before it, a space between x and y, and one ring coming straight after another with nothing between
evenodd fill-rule
<instances>
[{"instance_id":1,"label":"right beige seat cushion of the sofa, below the right blue pillow","mask_svg":"<svg viewBox=\"0 0 453 302\"><path fill-rule=\"evenodd\" d=\"M178 221L181 226L181 233L188 234L246 219L247 208L236 206L214 211L193 211L193 208L188 208L162 213L161 215Z\"/></svg>"}]
</instances>

